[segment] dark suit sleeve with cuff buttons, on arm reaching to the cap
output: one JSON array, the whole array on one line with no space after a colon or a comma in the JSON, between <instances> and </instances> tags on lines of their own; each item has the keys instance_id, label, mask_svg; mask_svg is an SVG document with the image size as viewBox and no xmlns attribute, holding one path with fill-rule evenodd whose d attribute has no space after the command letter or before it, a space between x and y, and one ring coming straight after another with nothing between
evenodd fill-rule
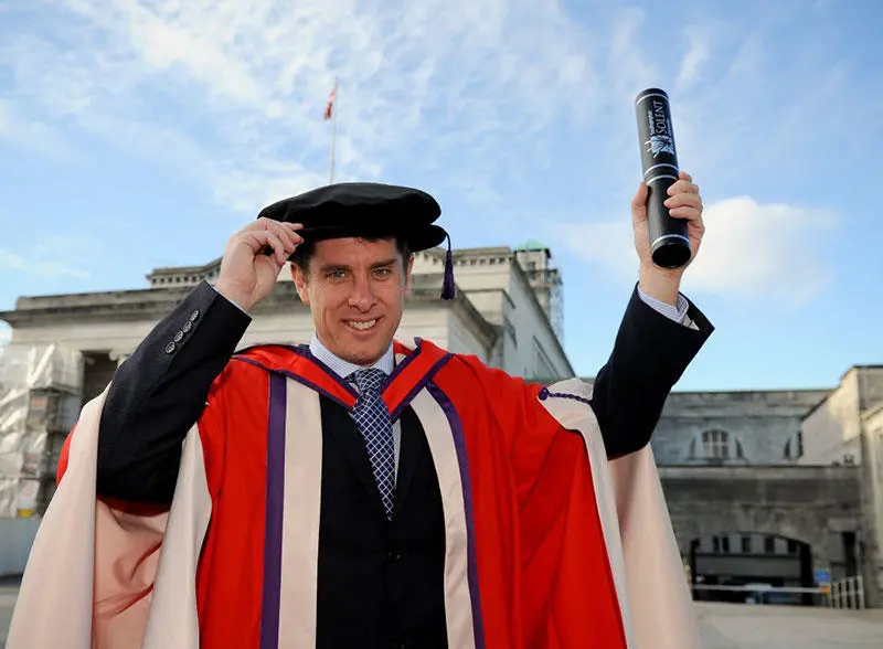
<instances>
[{"instance_id":1,"label":"dark suit sleeve with cuff buttons, on arm reaching to the cap","mask_svg":"<svg viewBox=\"0 0 883 649\"><path fill-rule=\"evenodd\" d=\"M171 502L181 444L249 322L202 283L119 366L100 419L99 496Z\"/></svg>"}]
</instances>

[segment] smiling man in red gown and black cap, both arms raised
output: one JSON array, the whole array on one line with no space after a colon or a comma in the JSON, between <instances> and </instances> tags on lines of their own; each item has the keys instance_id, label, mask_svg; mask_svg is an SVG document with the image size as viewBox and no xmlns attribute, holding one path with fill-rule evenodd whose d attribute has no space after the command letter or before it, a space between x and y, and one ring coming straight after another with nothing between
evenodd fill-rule
<instances>
[{"instance_id":1,"label":"smiling man in red gown and black cap, both arms raised","mask_svg":"<svg viewBox=\"0 0 883 649\"><path fill-rule=\"evenodd\" d=\"M683 173L669 193L695 254L699 189ZM412 253L446 236L428 194L340 184L265 209L68 437L41 534L70 546L38 539L29 565L84 573L93 624L67 646L693 646L647 444L712 327L682 269L652 265L646 199L640 279L592 390L393 339ZM289 257L310 344L234 353ZM626 483L607 465L629 457ZM23 615L10 647L49 646Z\"/></svg>"}]
</instances>

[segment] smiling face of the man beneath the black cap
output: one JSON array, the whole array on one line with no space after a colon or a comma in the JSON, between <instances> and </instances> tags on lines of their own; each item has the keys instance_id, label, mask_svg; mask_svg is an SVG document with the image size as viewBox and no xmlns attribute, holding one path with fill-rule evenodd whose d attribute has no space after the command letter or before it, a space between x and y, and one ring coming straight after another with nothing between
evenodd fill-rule
<instances>
[{"instance_id":1,"label":"smiling face of the man beneath the black cap","mask_svg":"<svg viewBox=\"0 0 883 649\"><path fill-rule=\"evenodd\" d=\"M300 300L316 334L332 353L359 365L380 359L392 342L411 288L394 241L333 238L316 244L308 273L292 265Z\"/></svg>"}]
</instances>

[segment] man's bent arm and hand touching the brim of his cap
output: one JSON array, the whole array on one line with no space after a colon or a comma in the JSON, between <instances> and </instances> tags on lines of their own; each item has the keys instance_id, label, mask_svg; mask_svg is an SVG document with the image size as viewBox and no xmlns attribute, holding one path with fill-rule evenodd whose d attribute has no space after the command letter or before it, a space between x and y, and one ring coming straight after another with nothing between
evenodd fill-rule
<instances>
[{"instance_id":1,"label":"man's bent arm and hand touching the brim of his cap","mask_svg":"<svg viewBox=\"0 0 883 649\"><path fill-rule=\"evenodd\" d=\"M260 219L234 234L216 287L200 285L117 370L99 428L99 496L171 502L181 443L251 322L246 311L300 243L296 228Z\"/></svg>"}]
</instances>

